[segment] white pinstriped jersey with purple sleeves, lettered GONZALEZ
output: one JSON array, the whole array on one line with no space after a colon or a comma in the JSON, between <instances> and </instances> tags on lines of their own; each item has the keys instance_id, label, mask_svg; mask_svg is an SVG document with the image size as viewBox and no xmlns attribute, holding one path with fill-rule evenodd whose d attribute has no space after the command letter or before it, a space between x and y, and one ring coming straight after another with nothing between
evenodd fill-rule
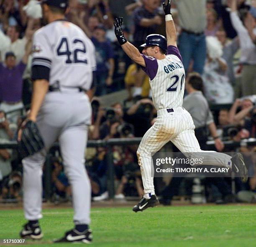
<instances>
[{"instance_id":1,"label":"white pinstriped jersey with purple sleeves, lettered GONZALEZ","mask_svg":"<svg viewBox=\"0 0 256 247\"><path fill-rule=\"evenodd\" d=\"M156 110L182 107L185 89L185 71L179 50L168 46L165 59L157 60L144 56L146 68L142 69L150 77L152 99Z\"/></svg>"}]
</instances>

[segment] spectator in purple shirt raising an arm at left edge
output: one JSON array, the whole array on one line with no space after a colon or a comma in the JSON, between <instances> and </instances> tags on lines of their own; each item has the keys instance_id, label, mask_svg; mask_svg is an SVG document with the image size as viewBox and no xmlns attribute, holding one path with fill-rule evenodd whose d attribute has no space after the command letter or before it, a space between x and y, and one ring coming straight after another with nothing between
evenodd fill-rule
<instances>
[{"instance_id":1,"label":"spectator in purple shirt raising an arm at left edge","mask_svg":"<svg viewBox=\"0 0 256 247\"><path fill-rule=\"evenodd\" d=\"M23 107L22 99L22 87L23 80L22 75L26 69L28 56L31 53L32 42L28 41L26 45L25 55L22 61L16 65L16 56L13 52L5 54L5 66L0 62L0 109L7 113L7 118L10 122L17 123L20 112L11 112L20 110Z\"/></svg>"}]
</instances>

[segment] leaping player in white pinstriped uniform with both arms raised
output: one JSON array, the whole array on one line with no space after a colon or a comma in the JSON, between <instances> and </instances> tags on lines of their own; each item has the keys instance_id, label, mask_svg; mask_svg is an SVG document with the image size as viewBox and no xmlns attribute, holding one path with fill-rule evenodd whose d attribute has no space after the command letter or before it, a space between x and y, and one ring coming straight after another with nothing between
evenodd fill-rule
<instances>
[{"instance_id":1,"label":"leaping player in white pinstriped uniform with both arms raised","mask_svg":"<svg viewBox=\"0 0 256 247\"><path fill-rule=\"evenodd\" d=\"M137 155L141 168L144 196L133 207L133 211L143 211L159 204L154 191L153 176L151 176L151 156L160 150L167 142L172 141L183 153L204 152L195 137L195 125L192 117L183 107L185 71L182 58L177 48L177 36L171 13L171 0L163 3L166 20L166 36L151 34L142 45L141 54L123 36L123 18L116 18L115 35L125 53L150 78L152 98L157 110L157 120L143 136ZM166 53L167 51L167 53ZM195 154L194 154L195 155ZM243 181L248 178L246 166L241 154L233 158L223 153L205 153L202 165L215 165L231 168L241 176Z\"/></svg>"}]
</instances>

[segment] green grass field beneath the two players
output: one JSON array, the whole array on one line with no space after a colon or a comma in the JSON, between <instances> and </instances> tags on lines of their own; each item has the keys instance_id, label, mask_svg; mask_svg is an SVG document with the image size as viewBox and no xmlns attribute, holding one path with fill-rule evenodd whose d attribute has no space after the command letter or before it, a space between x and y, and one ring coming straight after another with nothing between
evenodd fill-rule
<instances>
[{"instance_id":1,"label":"green grass field beneath the two players","mask_svg":"<svg viewBox=\"0 0 256 247\"><path fill-rule=\"evenodd\" d=\"M51 240L73 227L72 209L46 209L43 213L43 240L30 240L23 246L70 246L52 244ZM134 213L130 207L95 208L91 217L91 246L256 246L256 206L171 206L142 213ZM0 239L17 239L25 222L22 210L0 211Z\"/></svg>"}]
</instances>

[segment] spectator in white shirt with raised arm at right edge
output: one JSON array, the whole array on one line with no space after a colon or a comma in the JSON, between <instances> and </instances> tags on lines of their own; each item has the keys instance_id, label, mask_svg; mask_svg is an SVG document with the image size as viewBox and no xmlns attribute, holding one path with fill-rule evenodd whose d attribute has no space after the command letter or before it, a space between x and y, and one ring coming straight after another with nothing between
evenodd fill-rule
<instances>
[{"instance_id":1,"label":"spectator in white shirt with raised arm at right edge","mask_svg":"<svg viewBox=\"0 0 256 247\"><path fill-rule=\"evenodd\" d=\"M230 0L230 19L233 27L238 33L241 46L240 62L243 64L242 70L242 96L256 94L256 46L253 43L249 31L245 23L251 22L248 12L243 15L243 22L240 20L237 13L237 1ZM254 19L254 18L253 18ZM255 27L255 20L253 21L253 28Z\"/></svg>"}]
</instances>

